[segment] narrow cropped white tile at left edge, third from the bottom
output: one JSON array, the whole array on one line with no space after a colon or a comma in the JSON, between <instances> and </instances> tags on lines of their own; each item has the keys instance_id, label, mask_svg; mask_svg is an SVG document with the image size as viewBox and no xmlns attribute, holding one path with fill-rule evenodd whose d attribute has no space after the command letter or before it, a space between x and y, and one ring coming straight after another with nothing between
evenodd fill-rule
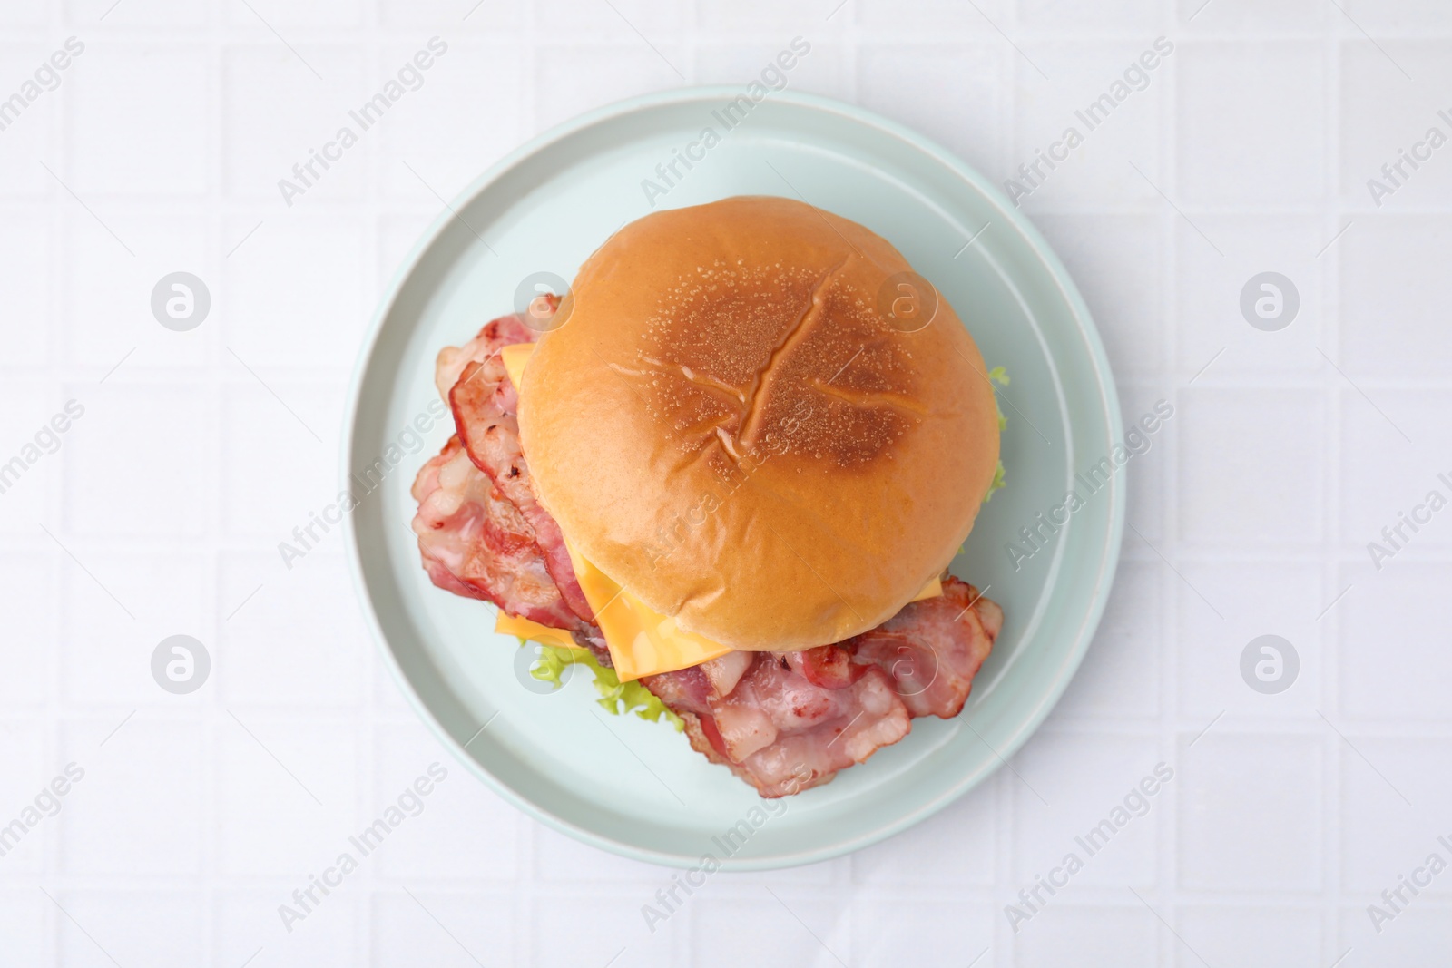
<instances>
[{"instance_id":1,"label":"narrow cropped white tile at left edge, third from the bottom","mask_svg":"<svg viewBox=\"0 0 1452 968\"><path fill-rule=\"evenodd\" d=\"M55 569L49 553L0 553L7 625L6 641L0 644L0 662L4 663L0 705L4 708L44 704L54 691L51 656L60 634Z\"/></svg>"}]
</instances>

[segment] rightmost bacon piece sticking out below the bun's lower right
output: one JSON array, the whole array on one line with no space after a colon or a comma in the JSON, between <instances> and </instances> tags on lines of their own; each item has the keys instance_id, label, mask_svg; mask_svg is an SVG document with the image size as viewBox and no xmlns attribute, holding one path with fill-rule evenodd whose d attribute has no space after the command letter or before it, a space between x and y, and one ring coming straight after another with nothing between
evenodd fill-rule
<instances>
[{"instance_id":1,"label":"rightmost bacon piece sticking out below the bun's lower right","mask_svg":"<svg viewBox=\"0 0 1452 968\"><path fill-rule=\"evenodd\" d=\"M948 718L963 710L1002 627L1003 610L950 575L942 579L942 595L908 604L842 649L852 662L876 665L892 676L915 717Z\"/></svg>"}]
</instances>

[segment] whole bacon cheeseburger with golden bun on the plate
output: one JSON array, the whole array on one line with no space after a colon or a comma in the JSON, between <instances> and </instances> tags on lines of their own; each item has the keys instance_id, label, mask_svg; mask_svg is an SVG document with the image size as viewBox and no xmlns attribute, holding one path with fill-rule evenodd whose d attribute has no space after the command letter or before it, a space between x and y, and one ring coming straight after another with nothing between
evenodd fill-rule
<instances>
[{"instance_id":1,"label":"whole bacon cheeseburger with golden bun on the plate","mask_svg":"<svg viewBox=\"0 0 1452 968\"><path fill-rule=\"evenodd\" d=\"M781 197L632 222L439 354L441 589L762 797L954 717L1002 610L948 573L1002 480L990 373L887 241ZM547 675L547 673L546 673Z\"/></svg>"}]
</instances>

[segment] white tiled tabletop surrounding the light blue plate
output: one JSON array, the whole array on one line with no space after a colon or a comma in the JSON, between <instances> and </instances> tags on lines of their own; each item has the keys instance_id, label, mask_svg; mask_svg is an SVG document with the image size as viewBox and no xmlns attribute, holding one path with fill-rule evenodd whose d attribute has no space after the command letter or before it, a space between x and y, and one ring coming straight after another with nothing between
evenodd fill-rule
<instances>
[{"instance_id":1,"label":"white tiled tabletop surrounding the light blue plate","mask_svg":"<svg viewBox=\"0 0 1452 968\"><path fill-rule=\"evenodd\" d=\"M0 131L0 462L86 408L0 493L0 824L86 771L0 858L0 965L1452 962L1452 874L1379 935L1366 911L1452 861L1452 511L1381 570L1366 551L1452 496L1452 147L1381 208L1366 189L1452 134L1445 3L112 1L0 4L0 99L86 45ZM434 35L423 89L285 206L277 179ZM337 533L292 570L276 553L335 491L362 328L439 209L421 180L452 196L552 123L677 70L743 81L796 35L793 86L995 180L1175 45L1024 203L1125 415L1176 415L1134 466L1114 601L1022 779L851 858L713 878L652 935L668 871L450 768L287 933L290 891L452 763L375 657ZM183 268L212 313L176 334L148 300ZM1265 270L1301 295L1281 332L1237 309ZM148 668L177 633L213 659L187 697ZM1301 657L1281 695L1240 679L1265 633ZM1162 760L1149 813L1015 933L1005 906Z\"/></svg>"}]
</instances>

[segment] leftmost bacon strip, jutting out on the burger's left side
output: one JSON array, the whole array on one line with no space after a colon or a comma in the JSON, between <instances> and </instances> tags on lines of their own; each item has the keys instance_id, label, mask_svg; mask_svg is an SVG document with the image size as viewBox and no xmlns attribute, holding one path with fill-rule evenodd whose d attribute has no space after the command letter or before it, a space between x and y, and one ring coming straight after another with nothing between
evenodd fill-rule
<instances>
[{"instance_id":1,"label":"leftmost bacon strip, jutting out on the burger's left side","mask_svg":"<svg viewBox=\"0 0 1452 968\"><path fill-rule=\"evenodd\" d=\"M556 628L579 618L544 567L529 522L479 473L457 437L414 480L414 534L434 585Z\"/></svg>"}]
</instances>

